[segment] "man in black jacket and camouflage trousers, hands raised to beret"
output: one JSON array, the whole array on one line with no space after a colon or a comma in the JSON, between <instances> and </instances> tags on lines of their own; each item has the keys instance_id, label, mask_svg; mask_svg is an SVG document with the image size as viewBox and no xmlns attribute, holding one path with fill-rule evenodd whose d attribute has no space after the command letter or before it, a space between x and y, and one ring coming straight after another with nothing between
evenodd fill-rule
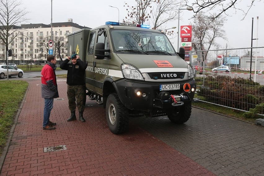
<instances>
[{"instance_id":1,"label":"man in black jacket and camouflage trousers, hands raised to beret","mask_svg":"<svg viewBox=\"0 0 264 176\"><path fill-rule=\"evenodd\" d=\"M71 59L72 62L68 63ZM67 95L71 116L67 119L67 121L76 120L76 99L77 108L79 110L79 120L81 122L85 122L85 119L83 118L83 111L85 106L84 99L86 96L86 91L83 87L85 86L84 75L86 67L87 64L81 61L80 56L77 54L74 54L71 57L69 56L60 64L61 69L68 70L66 83L68 84Z\"/></svg>"}]
</instances>

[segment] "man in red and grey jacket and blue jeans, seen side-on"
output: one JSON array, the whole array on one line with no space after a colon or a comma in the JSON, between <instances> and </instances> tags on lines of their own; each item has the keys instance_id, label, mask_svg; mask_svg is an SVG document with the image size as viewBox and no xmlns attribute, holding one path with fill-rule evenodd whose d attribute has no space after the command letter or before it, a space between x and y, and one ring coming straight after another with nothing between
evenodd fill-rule
<instances>
[{"instance_id":1,"label":"man in red and grey jacket and blue jeans, seen side-on","mask_svg":"<svg viewBox=\"0 0 264 176\"><path fill-rule=\"evenodd\" d=\"M55 70L56 58L54 55L47 57L47 64L41 70L41 96L44 98L43 130L54 130L56 123L50 121L51 109L54 98L59 97Z\"/></svg>"}]
</instances>

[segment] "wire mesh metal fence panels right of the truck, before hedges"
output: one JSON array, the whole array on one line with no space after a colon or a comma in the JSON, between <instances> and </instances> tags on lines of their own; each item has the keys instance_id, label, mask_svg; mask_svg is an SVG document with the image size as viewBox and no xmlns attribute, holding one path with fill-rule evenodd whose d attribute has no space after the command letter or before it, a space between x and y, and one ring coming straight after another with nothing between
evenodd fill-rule
<instances>
[{"instance_id":1,"label":"wire mesh metal fence panels right of the truck, before hedges","mask_svg":"<svg viewBox=\"0 0 264 176\"><path fill-rule=\"evenodd\" d=\"M264 116L264 47L190 52L196 100ZM216 70L218 66L230 70ZM226 69L226 68L225 68Z\"/></svg>"}]
</instances>

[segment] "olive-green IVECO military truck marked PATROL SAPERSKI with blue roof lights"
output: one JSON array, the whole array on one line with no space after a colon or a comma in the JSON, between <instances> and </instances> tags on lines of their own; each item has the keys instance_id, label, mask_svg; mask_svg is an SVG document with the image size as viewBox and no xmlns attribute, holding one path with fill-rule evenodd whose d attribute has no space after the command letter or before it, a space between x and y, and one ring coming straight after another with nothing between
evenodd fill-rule
<instances>
[{"instance_id":1,"label":"olive-green IVECO military truck marked PATROL SAPERSKI with blue roof lights","mask_svg":"<svg viewBox=\"0 0 264 176\"><path fill-rule=\"evenodd\" d=\"M130 117L168 116L182 124L191 116L195 73L162 30L106 22L68 35L68 55L88 62L86 92L103 105L109 129L121 134Z\"/></svg>"}]
</instances>

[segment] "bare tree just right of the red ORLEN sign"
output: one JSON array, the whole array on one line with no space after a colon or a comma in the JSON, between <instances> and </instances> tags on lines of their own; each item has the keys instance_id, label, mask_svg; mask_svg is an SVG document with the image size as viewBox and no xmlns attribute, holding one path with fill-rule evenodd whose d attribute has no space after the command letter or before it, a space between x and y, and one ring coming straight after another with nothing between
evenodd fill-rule
<instances>
[{"instance_id":1,"label":"bare tree just right of the red ORLEN sign","mask_svg":"<svg viewBox=\"0 0 264 176\"><path fill-rule=\"evenodd\" d=\"M199 12L192 23L192 48L195 51L201 51L209 50L212 45L218 46L217 38L226 39L223 29L224 22L225 17L212 19L203 12ZM205 61L207 52L201 54L202 61Z\"/></svg>"}]
</instances>

